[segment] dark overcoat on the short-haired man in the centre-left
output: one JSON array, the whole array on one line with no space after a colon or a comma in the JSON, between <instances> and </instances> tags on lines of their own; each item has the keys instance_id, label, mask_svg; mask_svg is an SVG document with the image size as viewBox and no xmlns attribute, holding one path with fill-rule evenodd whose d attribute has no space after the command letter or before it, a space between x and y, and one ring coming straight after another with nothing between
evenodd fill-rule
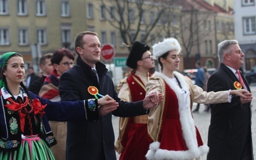
<instances>
[{"instance_id":1,"label":"dark overcoat on the short-haired man in the centre-left","mask_svg":"<svg viewBox=\"0 0 256 160\"><path fill-rule=\"evenodd\" d=\"M84 118L83 120L67 123L67 160L116 159L112 114L115 116L146 114L145 109L142 107L142 101L132 103L120 101L113 81L107 74L108 69L106 66L100 62L95 65L99 76L99 83L97 76L92 72L92 68L78 56L77 65L64 72L60 78L59 92L61 100L95 99L88 92L89 86L95 86L101 95L108 94L119 102L119 107L113 113L99 116L99 119L95 122L85 120ZM100 98L99 95L97 97Z\"/></svg>"}]
</instances>

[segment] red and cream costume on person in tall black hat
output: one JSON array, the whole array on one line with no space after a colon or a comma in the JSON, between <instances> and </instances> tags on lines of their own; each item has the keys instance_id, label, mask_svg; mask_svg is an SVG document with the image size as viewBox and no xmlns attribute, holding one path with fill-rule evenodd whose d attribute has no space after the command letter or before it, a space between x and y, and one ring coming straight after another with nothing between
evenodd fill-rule
<instances>
[{"instance_id":1,"label":"red and cream costume on person in tall black hat","mask_svg":"<svg viewBox=\"0 0 256 160\"><path fill-rule=\"evenodd\" d=\"M143 100L146 93L145 83L149 76L150 74L145 75L138 71L131 74L122 82L123 90L120 90L118 97L132 102ZM149 147L147 121L148 115L120 118L120 132L115 144L116 151L121 153L120 160L146 159Z\"/></svg>"}]
</instances>

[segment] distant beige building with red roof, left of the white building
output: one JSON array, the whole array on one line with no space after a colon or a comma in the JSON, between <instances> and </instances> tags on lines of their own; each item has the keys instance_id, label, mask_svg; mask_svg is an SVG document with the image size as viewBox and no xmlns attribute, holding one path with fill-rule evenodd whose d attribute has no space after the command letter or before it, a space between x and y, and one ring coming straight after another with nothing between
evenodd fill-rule
<instances>
[{"instance_id":1,"label":"distant beige building with red roof, left of the white building","mask_svg":"<svg viewBox=\"0 0 256 160\"><path fill-rule=\"evenodd\" d=\"M184 39L182 49L186 55L184 68L195 68L197 60L202 61L202 65L208 68L218 67L218 43L234 38L234 16L230 5L232 3L224 2L220 0L177 1L182 5L182 26L187 25L186 28L189 28L186 32L180 31Z\"/></svg>"}]
</instances>

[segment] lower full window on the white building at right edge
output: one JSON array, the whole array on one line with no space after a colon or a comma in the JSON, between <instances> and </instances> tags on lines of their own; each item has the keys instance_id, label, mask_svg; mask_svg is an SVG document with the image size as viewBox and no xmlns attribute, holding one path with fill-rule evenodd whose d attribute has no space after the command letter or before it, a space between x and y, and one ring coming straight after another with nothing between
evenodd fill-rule
<instances>
[{"instance_id":1,"label":"lower full window on the white building at right edge","mask_svg":"<svg viewBox=\"0 0 256 160\"><path fill-rule=\"evenodd\" d=\"M244 35L254 35L256 33L255 17L243 18Z\"/></svg>"}]
</instances>

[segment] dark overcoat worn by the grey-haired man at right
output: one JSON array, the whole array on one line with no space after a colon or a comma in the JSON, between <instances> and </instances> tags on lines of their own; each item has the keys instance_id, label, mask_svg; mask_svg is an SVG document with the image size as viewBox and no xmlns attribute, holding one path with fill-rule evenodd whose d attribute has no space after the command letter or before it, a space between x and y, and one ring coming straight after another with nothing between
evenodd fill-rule
<instances>
[{"instance_id":1,"label":"dark overcoat worn by the grey-haired man at right","mask_svg":"<svg viewBox=\"0 0 256 160\"><path fill-rule=\"evenodd\" d=\"M250 92L243 74L243 81ZM207 91L236 90L234 82L239 82L236 75L223 63L209 78ZM248 141L247 146L252 150L251 103L241 106L240 98L232 96L230 103L211 105L211 124L208 133L209 154L208 160L232 159L239 160ZM253 155L252 155L253 157Z\"/></svg>"}]
</instances>

